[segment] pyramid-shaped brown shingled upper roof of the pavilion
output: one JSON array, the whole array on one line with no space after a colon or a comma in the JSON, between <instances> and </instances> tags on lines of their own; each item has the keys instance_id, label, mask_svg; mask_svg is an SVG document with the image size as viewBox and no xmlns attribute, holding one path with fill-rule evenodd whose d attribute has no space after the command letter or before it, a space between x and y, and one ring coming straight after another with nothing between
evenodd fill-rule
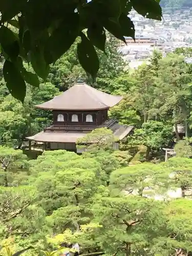
<instances>
[{"instance_id":1,"label":"pyramid-shaped brown shingled upper roof of the pavilion","mask_svg":"<svg viewBox=\"0 0 192 256\"><path fill-rule=\"evenodd\" d=\"M47 110L102 110L111 108L119 103L122 98L122 96L103 93L84 82L77 82L66 92L36 105L36 108Z\"/></svg>"}]
</instances>

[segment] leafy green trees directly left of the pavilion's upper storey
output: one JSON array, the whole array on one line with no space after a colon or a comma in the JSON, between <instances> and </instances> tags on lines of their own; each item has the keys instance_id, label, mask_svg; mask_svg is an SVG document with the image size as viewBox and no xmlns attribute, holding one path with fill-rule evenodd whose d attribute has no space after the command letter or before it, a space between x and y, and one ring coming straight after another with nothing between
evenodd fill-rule
<instances>
[{"instance_id":1,"label":"leafy green trees directly left of the pavilion's upper storey","mask_svg":"<svg viewBox=\"0 0 192 256\"><path fill-rule=\"evenodd\" d=\"M40 84L39 88L33 89L29 86L22 104L10 94L6 95L6 92L0 101L1 144L20 148L25 137L49 125L52 122L52 113L37 110L34 105L50 100L58 93L58 89L51 83Z\"/></svg>"}]
</instances>

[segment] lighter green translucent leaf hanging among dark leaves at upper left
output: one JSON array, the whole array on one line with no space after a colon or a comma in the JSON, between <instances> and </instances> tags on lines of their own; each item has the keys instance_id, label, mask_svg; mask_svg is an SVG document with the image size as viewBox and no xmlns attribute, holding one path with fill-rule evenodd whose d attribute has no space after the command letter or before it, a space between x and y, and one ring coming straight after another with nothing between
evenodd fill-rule
<instances>
[{"instance_id":1,"label":"lighter green translucent leaf hanging among dark leaves at upper left","mask_svg":"<svg viewBox=\"0 0 192 256\"><path fill-rule=\"evenodd\" d=\"M30 53L31 65L35 73L46 81L49 74L49 65L45 61L44 51L40 47L33 48Z\"/></svg>"}]
</instances>

